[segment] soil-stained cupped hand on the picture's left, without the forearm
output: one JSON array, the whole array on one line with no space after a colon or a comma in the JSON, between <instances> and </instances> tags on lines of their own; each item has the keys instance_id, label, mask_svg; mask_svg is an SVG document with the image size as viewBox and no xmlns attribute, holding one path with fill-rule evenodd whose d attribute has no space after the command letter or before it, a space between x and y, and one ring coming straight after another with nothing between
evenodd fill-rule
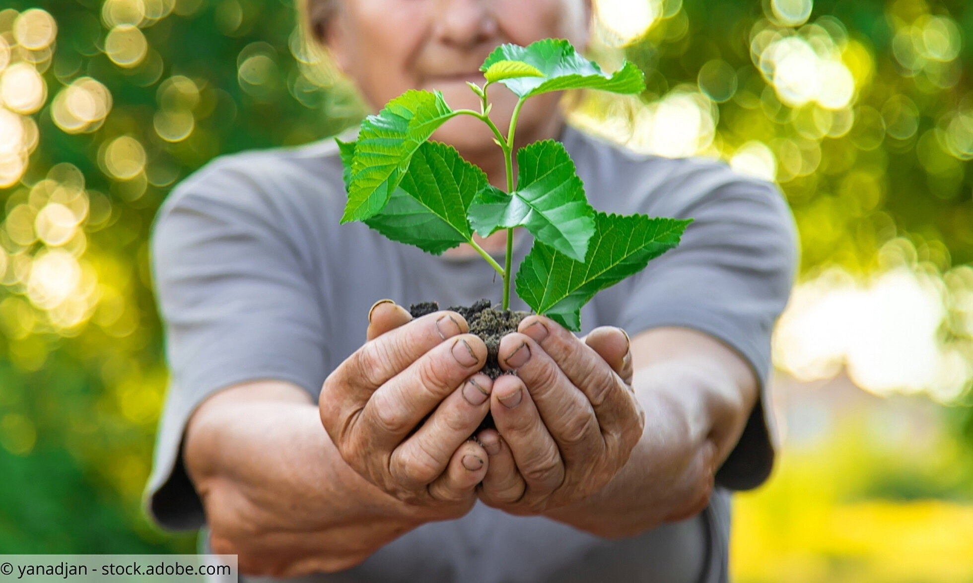
<instances>
[{"instance_id":1,"label":"soil-stained cupped hand on the picture's left, without the forearm","mask_svg":"<svg viewBox=\"0 0 973 583\"><path fill-rule=\"evenodd\" d=\"M321 389L321 422L344 461L432 520L476 502L486 451L469 441L489 412L492 382L478 373L486 345L454 311L412 319L391 303L369 314L368 341Z\"/></svg>"}]
</instances>

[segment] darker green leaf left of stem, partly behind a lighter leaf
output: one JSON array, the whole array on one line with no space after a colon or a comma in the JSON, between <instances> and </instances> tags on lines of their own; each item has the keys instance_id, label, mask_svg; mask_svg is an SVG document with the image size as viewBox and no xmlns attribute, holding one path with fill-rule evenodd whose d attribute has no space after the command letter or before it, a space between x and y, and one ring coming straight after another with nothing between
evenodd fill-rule
<instances>
[{"instance_id":1,"label":"darker green leaf left of stem, partly behind a lighter leaf","mask_svg":"<svg viewBox=\"0 0 973 583\"><path fill-rule=\"evenodd\" d=\"M388 204L365 224L385 237L439 255L469 241L470 202L489 184L486 173L452 146L423 142Z\"/></svg>"}]
</instances>

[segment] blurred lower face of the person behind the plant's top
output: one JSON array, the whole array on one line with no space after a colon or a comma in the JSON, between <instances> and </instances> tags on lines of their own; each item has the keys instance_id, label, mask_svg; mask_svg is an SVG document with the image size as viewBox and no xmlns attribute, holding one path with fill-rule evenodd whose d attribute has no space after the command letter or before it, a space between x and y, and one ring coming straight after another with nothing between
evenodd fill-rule
<instances>
[{"instance_id":1,"label":"blurred lower face of the person behind the plant's top","mask_svg":"<svg viewBox=\"0 0 973 583\"><path fill-rule=\"evenodd\" d=\"M566 38L582 51L591 21L590 0L332 1L338 2L337 13L322 40L375 110L404 91L422 89L442 91L453 109L479 111L479 98L466 82L483 86L479 68L494 48ZM490 86L488 96L490 116L506 128L517 97L499 85ZM555 93L529 99L519 134L549 127L558 116L558 98ZM496 147L486 125L468 116L454 118L434 137L461 152Z\"/></svg>"}]
</instances>

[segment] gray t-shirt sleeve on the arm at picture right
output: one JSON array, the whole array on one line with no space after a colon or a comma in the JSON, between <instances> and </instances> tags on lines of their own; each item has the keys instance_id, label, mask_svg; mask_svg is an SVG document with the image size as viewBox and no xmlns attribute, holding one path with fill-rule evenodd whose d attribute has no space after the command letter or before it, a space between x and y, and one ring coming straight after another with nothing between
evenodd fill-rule
<instances>
[{"instance_id":1,"label":"gray t-shirt sleeve on the arm at picture right","mask_svg":"<svg viewBox=\"0 0 973 583\"><path fill-rule=\"evenodd\" d=\"M756 488L770 475L775 427L768 380L771 335L798 264L793 215L777 188L722 164L699 164L655 193L661 216L692 218L679 246L634 277L621 325L634 335L660 326L706 333L750 364L761 398L716 484Z\"/></svg>"}]
</instances>

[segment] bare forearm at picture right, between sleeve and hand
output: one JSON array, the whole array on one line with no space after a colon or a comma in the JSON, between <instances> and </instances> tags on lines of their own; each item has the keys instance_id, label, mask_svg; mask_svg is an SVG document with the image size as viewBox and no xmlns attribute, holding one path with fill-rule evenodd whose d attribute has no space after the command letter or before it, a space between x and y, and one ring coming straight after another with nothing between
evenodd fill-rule
<instances>
[{"instance_id":1,"label":"bare forearm at picture right, between sleeve and hand","mask_svg":"<svg viewBox=\"0 0 973 583\"><path fill-rule=\"evenodd\" d=\"M642 438L607 487L552 518L618 537L703 510L716 468L753 408L756 380L736 353L702 336L633 339L633 388L646 413Z\"/></svg>"}]
</instances>

